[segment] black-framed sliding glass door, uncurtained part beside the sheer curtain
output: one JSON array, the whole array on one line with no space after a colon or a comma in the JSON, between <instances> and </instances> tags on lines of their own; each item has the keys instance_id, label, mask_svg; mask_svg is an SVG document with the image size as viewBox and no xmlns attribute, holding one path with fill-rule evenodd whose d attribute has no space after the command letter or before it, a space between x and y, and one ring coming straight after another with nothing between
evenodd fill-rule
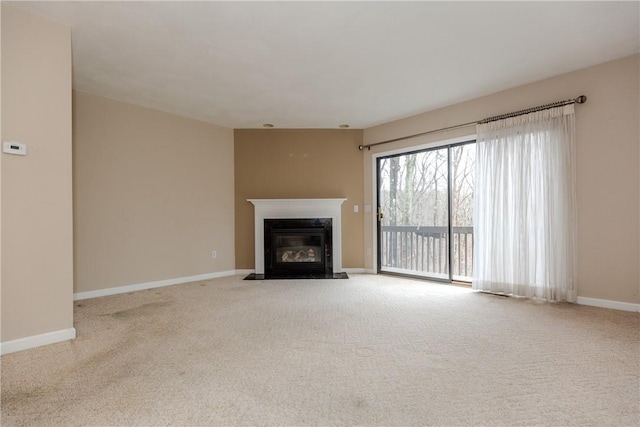
<instances>
[{"instance_id":1,"label":"black-framed sliding glass door, uncurtained part beside the sheer curtain","mask_svg":"<svg viewBox=\"0 0 640 427\"><path fill-rule=\"evenodd\" d=\"M473 141L377 162L378 270L470 281Z\"/></svg>"}]
</instances>

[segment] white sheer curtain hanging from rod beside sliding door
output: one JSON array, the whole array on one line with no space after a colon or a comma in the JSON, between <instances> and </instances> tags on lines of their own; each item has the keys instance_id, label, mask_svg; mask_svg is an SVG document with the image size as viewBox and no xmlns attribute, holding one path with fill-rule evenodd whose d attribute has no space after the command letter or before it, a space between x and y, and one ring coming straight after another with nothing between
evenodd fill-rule
<instances>
[{"instance_id":1,"label":"white sheer curtain hanging from rod beside sliding door","mask_svg":"<svg viewBox=\"0 0 640 427\"><path fill-rule=\"evenodd\" d=\"M473 288L575 302L573 105L478 125Z\"/></svg>"}]
</instances>

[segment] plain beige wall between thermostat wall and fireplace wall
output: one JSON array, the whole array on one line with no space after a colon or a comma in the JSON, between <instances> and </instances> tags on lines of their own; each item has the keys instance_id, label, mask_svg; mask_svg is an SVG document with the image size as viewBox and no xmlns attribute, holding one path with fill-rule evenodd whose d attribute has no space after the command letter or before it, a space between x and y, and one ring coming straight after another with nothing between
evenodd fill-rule
<instances>
[{"instance_id":1,"label":"plain beige wall between thermostat wall and fireplace wall","mask_svg":"<svg viewBox=\"0 0 640 427\"><path fill-rule=\"evenodd\" d=\"M76 292L235 269L231 129L74 91L73 136Z\"/></svg>"}]
</instances>

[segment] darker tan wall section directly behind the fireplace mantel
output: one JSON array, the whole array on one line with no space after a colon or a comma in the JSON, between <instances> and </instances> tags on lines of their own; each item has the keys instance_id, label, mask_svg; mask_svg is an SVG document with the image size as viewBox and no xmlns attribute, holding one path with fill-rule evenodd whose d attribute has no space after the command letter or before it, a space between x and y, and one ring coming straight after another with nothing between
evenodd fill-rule
<instances>
[{"instance_id":1,"label":"darker tan wall section directly behind the fireplace mantel","mask_svg":"<svg viewBox=\"0 0 640 427\"><path fill-rule=\"evenodd\" d=\"M342 266L362 268L362 131L235 131L236 267L254 268L253 205L247 199L346 198ZM359 212L353 211L358 205Z\"/></svg>"}]
</instances>

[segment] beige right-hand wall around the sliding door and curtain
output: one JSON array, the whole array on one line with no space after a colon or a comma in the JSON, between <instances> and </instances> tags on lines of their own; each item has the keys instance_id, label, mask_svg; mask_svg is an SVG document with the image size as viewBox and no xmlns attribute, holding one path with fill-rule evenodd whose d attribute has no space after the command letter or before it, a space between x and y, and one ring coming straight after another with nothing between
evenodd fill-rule
<instances>
[{"instance_id":1,"label":"beige right-hand wall around the sliding door and curtain","mask_svg":"<svg viewBox=\"0 0 640 427\"><path fill-rule=\"evenodd\" d=\"M578 295L637 304L640 302L639 64L640 56L634 55L398 120L366 129L364 141L375 143L586 95L587 103L576 106ZM373 154L472 133L474 128L459 129L365 152L365 203L373 203ZM374 219L366 215L365 221L365 245L371 248ZM373 257L367 257L367 268L373 265Z\"/></svg>"}]
</instances>

